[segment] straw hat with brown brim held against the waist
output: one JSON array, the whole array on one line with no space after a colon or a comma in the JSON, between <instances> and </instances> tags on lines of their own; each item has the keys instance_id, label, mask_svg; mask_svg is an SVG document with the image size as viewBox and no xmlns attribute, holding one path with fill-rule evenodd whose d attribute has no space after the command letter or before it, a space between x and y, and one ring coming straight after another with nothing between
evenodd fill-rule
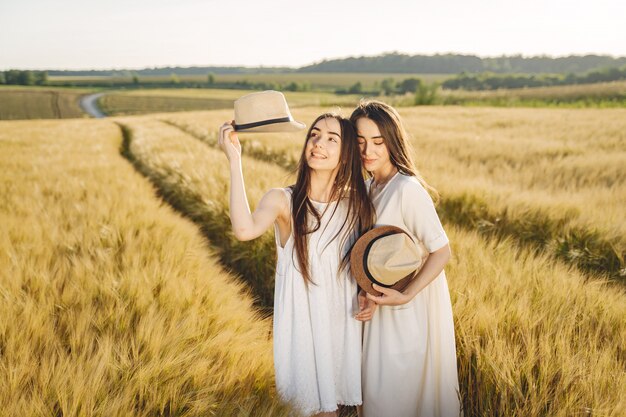
<instances>
[{"instance_id":1,"label":"straw hat with brown brim held against the waist","mask_svg":"<svg viewBox=\"0 0 626 417\"><path fill-rule=\"evenodd\" d=\"M379 296L372 284L402 291L424 266L428 250L422 242L396 226L376 227L356 241L350 269L361 288Z\"/></svg>"}]
</instances>

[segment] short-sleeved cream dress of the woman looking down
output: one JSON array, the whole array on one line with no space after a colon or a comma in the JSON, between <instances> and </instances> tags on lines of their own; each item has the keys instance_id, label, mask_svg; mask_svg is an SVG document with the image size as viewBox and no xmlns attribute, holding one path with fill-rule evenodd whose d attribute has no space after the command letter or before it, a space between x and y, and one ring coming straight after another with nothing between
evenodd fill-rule
<instances>
[{"instance_id":1,"label":"short-sleeved cream dress of the woman looking down","mask_svg":"<svg viewBox=\"0 0 626 417\"><path fill-rule=\"evenodd\" d=\"M369 185L369 184L368 184ZM432 199L415 177L396 174L373 198L376 225L448 243ZM445 272L409 303L378 306L363 335L364 417L458 417L452 305Z\"/></svg>"}]
</instances>

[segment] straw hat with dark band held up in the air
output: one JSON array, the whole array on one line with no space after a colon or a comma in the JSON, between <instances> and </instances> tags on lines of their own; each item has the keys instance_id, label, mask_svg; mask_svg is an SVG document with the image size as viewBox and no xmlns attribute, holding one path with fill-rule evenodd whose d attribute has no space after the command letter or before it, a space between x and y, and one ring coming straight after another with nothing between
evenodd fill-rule
<instances>
[{"instance_id":1,"label":"straw hat with dark band held up in the air","mask_svg":"<svg viewBox=\"0 0 626 417\"><path fill-rule=\"evenodd\" d=\"M296 132L306 127L293 119L287 100L279 91L261 91L235 100L235 131Z\"/></svg>"}]
</instances>

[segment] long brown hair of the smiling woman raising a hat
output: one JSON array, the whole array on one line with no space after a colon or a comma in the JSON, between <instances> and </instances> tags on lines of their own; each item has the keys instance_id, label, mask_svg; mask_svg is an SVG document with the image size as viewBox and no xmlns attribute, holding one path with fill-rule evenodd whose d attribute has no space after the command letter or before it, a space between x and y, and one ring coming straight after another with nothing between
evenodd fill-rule
<instances>
[{"instance_id":1,"label":"long brown hair of the smiling woman raising a hat","mask_svg":"<svg viewBox=\"0 0 626 417\"><path fill-rule=\"evenodd\" d=\"M306 147L311 138L311 132L315 124L327 118L337 120L341 127L339 168L329 197L329 201L337 201L338 204L335 205L331 217L334 216L339 202L347 198L348 210L343 225L339 229L340 232L347 230L352 231L353 235L360 236L371 229L374 224L374 206L369 199L365 187L361 155L354 127L348 119L334 113L324 113L311 123L311 127L306 134L306 140L298 162L296 183L291 186L291 216L294 245L300 270L304 277L304 282L307 285L313 282L309 268L308 235L321 227L321 218L324 213L318 212L309 199L308 193L311 185L311 168L306 161ZM315 219L312 227L309 226L309 215L313 216ZM349 237L349 233L344 234L342 245L347 242ZM336 238L337 236L333 237L333 239ZM341 259L340 270L347 266L348 259L349 254L346 253Z\"/></svg>"}]
</instances>

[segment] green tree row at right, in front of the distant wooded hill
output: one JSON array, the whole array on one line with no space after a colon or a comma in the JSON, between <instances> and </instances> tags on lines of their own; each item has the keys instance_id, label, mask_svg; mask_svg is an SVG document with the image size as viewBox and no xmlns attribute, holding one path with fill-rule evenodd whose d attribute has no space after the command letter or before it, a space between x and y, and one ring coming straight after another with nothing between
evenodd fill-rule
<instances>
[{"instance_id":1,"label":"green tree row at right, in front of the distant wooded hill","mask_svg":"<svg viewBox=\"0 0 626 417\"><path fill-rule=\"evenodd\" d=\"M525 87L550 87L572 84L593 84L600 82L626 80L626 67L606 68L592 71L584 75L573 73L555 75L497 75L493 73L483 74L459 74L457 77L444 81L441 87L448 90L497 90L499 88L525 88Z\"/></svg>"}]
</instances>

